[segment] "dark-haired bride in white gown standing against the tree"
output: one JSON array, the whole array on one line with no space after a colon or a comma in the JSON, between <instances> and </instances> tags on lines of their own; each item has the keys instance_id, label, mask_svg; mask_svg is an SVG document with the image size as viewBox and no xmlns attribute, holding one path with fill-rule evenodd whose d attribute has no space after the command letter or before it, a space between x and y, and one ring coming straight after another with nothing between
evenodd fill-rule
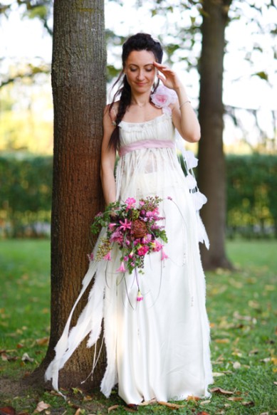
<instances>
[{"instance_id":1,"label":"dark-haired bride in white gown standing against the tree","mask_svg":"<svg viewBox=\"0 0 277 415\"><path fill-rule=\"evenodd\" d=\"M104 110L100 175L106 204L159 196L168 242L162 253L145 256L143 273L120 268L116 245L112 261L90 262L75 305L95 275L88 304L68 335L74 306L46 371L55 389L58 370L86 335L88 347L95 344L104 319L105 396L117 383L127 404L209 396L209 322L199 256L199 240L207 236L197 212L205 198L194 177L184 176L174 148L175 128L188 142L199 141L200 128L184 86L161 62L160 43L150 35L137 33L125 41L122 88ZM157 89L159 80L163 85ZM94 255L103 235L105 228Z\"/></svg>"}]
</instances>

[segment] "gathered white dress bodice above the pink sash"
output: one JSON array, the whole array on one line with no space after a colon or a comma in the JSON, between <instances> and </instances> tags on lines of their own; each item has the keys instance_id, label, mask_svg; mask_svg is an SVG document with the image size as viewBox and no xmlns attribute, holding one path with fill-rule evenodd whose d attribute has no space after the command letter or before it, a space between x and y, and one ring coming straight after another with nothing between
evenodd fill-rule
<instances>
[{"instance_id":1,"label":"gathered white dress bodice above the pink sash","mask_svg":"<svg viewBox=\"0 0 277 415\"><path fill-rule=\"evenodd\" d=\"M164 113L145 122L120 122L120 146L143 140L174 141L171 115Z\"/></svg>"}]
</instances>

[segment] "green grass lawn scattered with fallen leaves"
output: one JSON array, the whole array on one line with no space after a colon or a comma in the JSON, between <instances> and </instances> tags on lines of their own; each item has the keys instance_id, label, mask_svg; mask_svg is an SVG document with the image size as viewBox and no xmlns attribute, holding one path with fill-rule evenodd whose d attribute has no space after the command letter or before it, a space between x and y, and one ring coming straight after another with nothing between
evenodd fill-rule
<instances>
[{"instance_id":1,"label":"green grass lawn scattered with fallen leaves","mask_svg":"<svg viewBox=\"0 0 277 415\"><path fill-rule=\"evenodd\" d=\"M209 402L188 401L179 409L140 406L140 414L268 414L277 413L276 275L277 241L229 241L235 271L207 273L207 310L211 322L211 358L215 373ZM46 353L50 320L49 241L0 241L0 406L33 413L38 401L48 414L126 414L114 393L85 396L71 391L70 401L35 389L16 387ZM21 360L28 353L33 362ZM13 389L13 385L15 389ZM14 392L13 392L14 391ZM232 400L230 400L231 398ZM233 400L235 399L235 400ZM206 400L207 401L207 400ZM45 411L43 412L45 413Z\"/></svg>"}]
</instances>

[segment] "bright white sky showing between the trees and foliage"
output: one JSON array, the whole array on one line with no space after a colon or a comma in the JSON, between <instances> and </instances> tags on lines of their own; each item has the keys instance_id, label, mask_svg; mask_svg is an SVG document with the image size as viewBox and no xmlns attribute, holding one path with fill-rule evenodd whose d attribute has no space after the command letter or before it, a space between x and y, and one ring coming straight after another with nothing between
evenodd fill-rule
<instances>
[{"instance_id":1,"label":"bright white sky showing between the trees and foliage","mask_svg":"<svg viewBox=\"0 0 277 415\"><path fill-rule=\"evenodd\" d=\"M162 16L151 17L147 9L147 1L144 1L144 6L136 10L134 14L134 3L135 0L125 1L125 6L122 9L118 2L109 1L105 6L106 28L112 29L121 36L129 36L129 34L137 31L146 31L157 37L157 33L159 33L164 41L170 41L168 33L173 33L176 30L176 21L179 21L179 23L181 21L184 26L189 24L189 21L186 21L186 19L189 19L188 14L183 16L174 13L168 14L167 23L164 23ZM254 28L251 27L251 23L246 23L251 17L249 16L249 9L247 9L247 13L247 19L242 14L241 19L232 21L231 25L226 28L226 38L229 42L227 44L228 53L226 53L224 59L224 104L258 110L261 126L268 132L268 135L272 136L271 112L272 110L277 111L277 63L273 59L272 38L266 35L261 37L257 33L253 33ZM275 16L272 16L272 13L275 13ZM117 16L117 19L115 19L115 16ZM128 16L128 18L126 19L125 16ZM193 16L193 13L191 16ZM197 11L195 11L195 18L199 19ZM277 10L276 12L271 11L269 16L265 9L261 21L262 25L272 24L274 21L277 21ZM38 19L21 19L18 13L13 12L9 19L1 19L0 36L1 39L4 39L4 42L1 41L0 43L1 73L6 72L14 58L16 58L16 61L26 62L30 61L30 58L34 62L36 59L43 58L44 61L51 62L51 37L48 36ZM244 59L245 50L247 51L247 48L250 50L255 43L262 44L263 59L261 60L261 55L258 52L256 56L254 53L254 64L251 64ZM118 48L118 54L120 54L120 51L121 47ZM194 53L198 53L198 51L195 50ZM108 53L108 63L113 63L114 59L114 54ZM187 73L182 62L175 63L174 70L184 79L192 103L197 107L199 93L197 71ZM257 76L251 76L251 73L263 70L267 70L270 74L271 85ZM51 88L50 85L49 88ZM252 131L253 136L256 135L254 120L247 114L244 119L246 130ZM231 121L226 120L225 141L229 142L234 139L234 135L239 134L241 132L232 125Z\"/></svg>"}]
</instances>

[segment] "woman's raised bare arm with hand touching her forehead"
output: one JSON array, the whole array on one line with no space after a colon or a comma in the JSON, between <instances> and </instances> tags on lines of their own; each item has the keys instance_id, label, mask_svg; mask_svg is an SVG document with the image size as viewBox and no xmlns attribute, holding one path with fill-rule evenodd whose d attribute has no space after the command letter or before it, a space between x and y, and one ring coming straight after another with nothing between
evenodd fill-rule
<instances>
[{"instance_id":1,"label":"woman's raised bare arm with hand touching her forehead","mask_svg":"<svg viewBox=\"0 0 277 415\"><path fill-rule=\"evenodd\" d=\"M178 96L178 103L172 106L172 120L179 134L188 142L200 140L200 125L192 105L189 103L184 85L173 70L165 65L155 62L155 66L162 73L158 75L167 88L173 89Z\"/></svg>"}]
</instances>

